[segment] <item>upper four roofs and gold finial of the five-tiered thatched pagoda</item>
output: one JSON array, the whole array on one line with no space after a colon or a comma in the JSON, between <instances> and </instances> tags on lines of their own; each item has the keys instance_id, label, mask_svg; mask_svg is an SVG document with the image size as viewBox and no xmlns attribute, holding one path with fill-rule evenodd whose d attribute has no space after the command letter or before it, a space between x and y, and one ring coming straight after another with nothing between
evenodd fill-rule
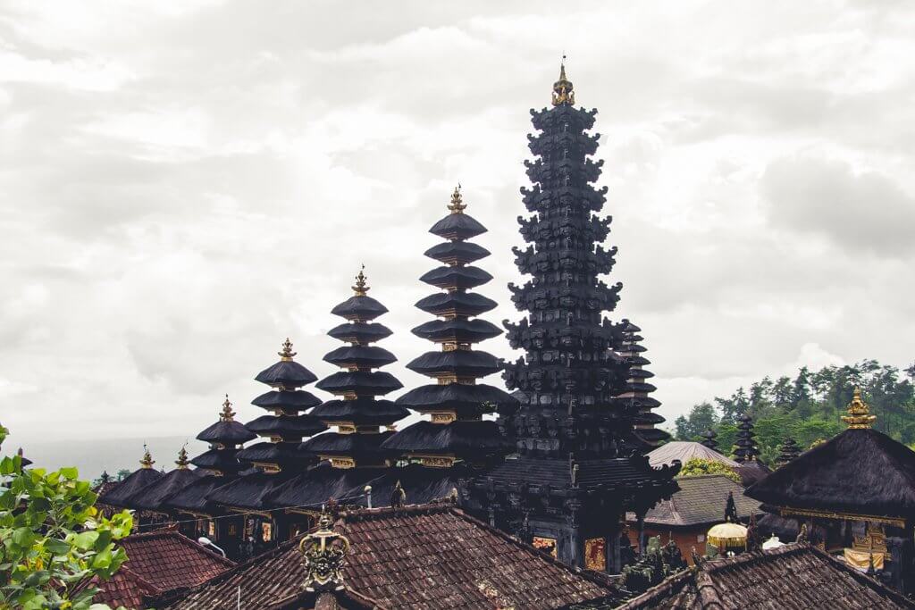
<instances>
[{"instance_id":1,"label":"upper four roofs and gold finial of the five-tiered thatched pagoda","mask_svg":"<svg viewBox=\"0 0 915 610\"><path fill-rule=\"evenodd\" d=\"M279 362L254 378L274 389L251 401L270 414L245 424L248 430L267 440L245 447L237 454L239 460L258 466L264 473L277 473L290 466L305 467L313 462L311 456L299 451L298 445L303 437L327 430L318 419L304 414L321 401L313 394L299 390L318 378L294 360L296 352L288 338L279 357Z\"/></svg>"}]
</instances>

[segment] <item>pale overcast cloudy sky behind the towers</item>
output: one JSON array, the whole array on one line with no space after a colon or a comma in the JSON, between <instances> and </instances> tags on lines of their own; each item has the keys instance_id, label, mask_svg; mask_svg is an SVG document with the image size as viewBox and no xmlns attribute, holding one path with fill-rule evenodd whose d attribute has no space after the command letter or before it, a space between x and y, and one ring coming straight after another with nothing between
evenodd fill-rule
<instances>
[{"instance_id":1,"label":"pale overcast cloudy sky behind the towers","mask_svg":"<svg viewBox=\"0 0 915 610\"><path fill-rule=\"evenodd\" d=\"M564 51L600 111L611 316L644 329L663 415L801 364L908 365L913 28L890 2L2 0L0 421L26 446L193 436L224 392L251 419L287 335L332 371L361 262L414 358L458 181L488 317L517 318L528 109Z\"/></svg>"}]
</instances>

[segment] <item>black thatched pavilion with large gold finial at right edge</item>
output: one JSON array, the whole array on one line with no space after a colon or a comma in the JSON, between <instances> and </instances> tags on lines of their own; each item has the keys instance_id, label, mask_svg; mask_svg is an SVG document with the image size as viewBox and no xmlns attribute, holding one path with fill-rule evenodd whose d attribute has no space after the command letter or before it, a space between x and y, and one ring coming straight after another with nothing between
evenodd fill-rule
<instances>
[{"instance_id":1,"label":"black thatched pavilion with large gold finial at right edge","mask_svg":"<svg viewBox=\"0 0 915 610\"><path fill-rule=\"evenodd\" d=\"M871 428L861 392L845 432L781 466L746 494L770 513L760 528L782 539L802 528L823 551L915 592L915 452Z\"/></svg>"}]
</instances>

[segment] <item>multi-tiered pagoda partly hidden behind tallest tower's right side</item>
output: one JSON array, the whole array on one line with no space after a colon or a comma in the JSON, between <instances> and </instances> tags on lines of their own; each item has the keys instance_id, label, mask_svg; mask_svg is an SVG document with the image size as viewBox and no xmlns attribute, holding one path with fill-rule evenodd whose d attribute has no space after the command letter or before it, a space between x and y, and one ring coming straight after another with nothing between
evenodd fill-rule
<instances>
[{"instance_id":1,"label":"multi-tiered pagoda partly hidden behind tallest tower's right side","mask_svg":"<svg viewBox=\"0 0 915 610\"><path fill-rule=\"evenodd\" d=\"M655 428L665 420L658 413L652 412L653 409L661 406L661 402L649 396L651 392L657 390L648 382L654 377L654 373L644 369L646 364L651 364L651 360L643 355L645 348L640 345L643 339L638 334L641 331L639 326L635 326L624 318L617 327L617 331L620 339L617 354L629 365L626 389L617 396L617 399L624 404L629 403L626 406L627 411L635 412L632 421L635 425L636 446L643 451L651 451L671 440L669 433Z\"/></svg>"}]
</instances>

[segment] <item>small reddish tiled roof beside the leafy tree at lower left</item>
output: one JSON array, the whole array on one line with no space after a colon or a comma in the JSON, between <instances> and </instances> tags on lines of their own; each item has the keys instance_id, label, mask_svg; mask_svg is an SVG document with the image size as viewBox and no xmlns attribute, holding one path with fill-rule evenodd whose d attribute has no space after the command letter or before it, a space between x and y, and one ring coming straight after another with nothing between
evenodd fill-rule
<instances>
[{"instance_id":1,"label":"small reddish tiled roof beside the leafy tree at lower left","mask_svg":"<svg viewBox=\"0 0 915 610\"><path fill-rule=\"evenodd\" d=\"M201 547L176 530L133 534L119 542L127 561L111 580L96 583L96 603L113 608L145 608L144 596L196 586L234 563Z\"/></svg>"}]
</instances>

